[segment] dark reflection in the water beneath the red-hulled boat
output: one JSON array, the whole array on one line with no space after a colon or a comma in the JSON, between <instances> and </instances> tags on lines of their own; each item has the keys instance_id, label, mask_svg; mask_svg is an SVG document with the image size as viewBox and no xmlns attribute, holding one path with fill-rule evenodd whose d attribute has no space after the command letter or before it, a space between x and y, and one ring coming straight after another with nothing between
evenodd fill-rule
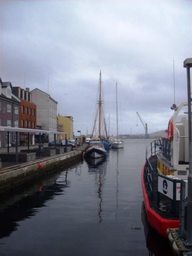
<instances>
[{"instance_id":1,"label":"dark reflection in the water beneath the red-hulled boat","mask_svg":"<svg viewBox=\"0 0 192 256\"><path fill-rule=\"evenodd\" d=\"M145 210L145 203L142 202L141 207L141 220L144 226L145 238L146 238L146 247L149 251L149 256L172 256L174 255L171 252L168 239L158 235L156 230L150 227L147 221L147 215Z\"/></svg>"}]
</instances>

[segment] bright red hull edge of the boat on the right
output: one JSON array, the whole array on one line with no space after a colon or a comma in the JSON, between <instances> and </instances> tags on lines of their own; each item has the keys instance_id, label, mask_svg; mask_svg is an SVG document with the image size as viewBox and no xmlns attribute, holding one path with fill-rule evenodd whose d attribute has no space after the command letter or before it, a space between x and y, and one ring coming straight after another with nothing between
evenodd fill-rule
<instances>
[{"instance_id":1,"label":"bright red hull edge of the boat on the right","mask_svg":"<svg viewBox=\"0 0 192 256\"><path fill-rule=\"evenodd\" d=\"M145 187L144 175L145 175L145 164L143 165L142 172L141 172L141 185L142 185L143 198L144 198L145 208L147 213L147 220L151 227L156 229L156 231L161 236L167 238L168 237L167 229L179 228L179 220L162 218L157 212L151 209L149 204L149 198L148 198L146 187Z\"/></svg>"}]
</instances>

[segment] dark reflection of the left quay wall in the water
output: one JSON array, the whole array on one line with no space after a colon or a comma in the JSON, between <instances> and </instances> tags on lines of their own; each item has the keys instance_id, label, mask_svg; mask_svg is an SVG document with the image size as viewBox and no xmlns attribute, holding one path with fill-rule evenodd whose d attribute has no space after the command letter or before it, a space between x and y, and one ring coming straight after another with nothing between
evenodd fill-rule
<instances>
[{"instance_id":1,"label":"dark reflection of the left quay wall in the water","mask_svg":"<svg viewBox=\"0 0 192 256\"><path fill-rule=\"evenodd\" d=\"M53 200L55 196L62 195L70 182L67 180L68 172L65 172L64 180L57 180L55 175L46 184L46 181L35 183L33 186L8 197L1 198L0 205L0 238L10 236L17 230L18 222L33 217L40 211L41 207L46 207L46 202Z\"/></svg>"}]
</instances>

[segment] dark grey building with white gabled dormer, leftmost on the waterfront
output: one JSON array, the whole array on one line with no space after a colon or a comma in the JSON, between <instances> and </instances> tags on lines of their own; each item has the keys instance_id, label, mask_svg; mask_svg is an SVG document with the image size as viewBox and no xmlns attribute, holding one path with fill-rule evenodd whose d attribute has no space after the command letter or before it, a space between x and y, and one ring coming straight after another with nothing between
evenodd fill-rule
<instances>
[{"instance_id":1,"label":"dark grey building with white gabled dormer, leftmost on the waterfront","mask_svg":"<svg viewBox=\"0 0 192 256\"><path fill-rule=\"evenodd\" d=\"M0 126L19 127L20 99L13 94L11 82L0 77ZM14 146L15 133L1 131L0 147Z\"/></svg>"}]
</instances>

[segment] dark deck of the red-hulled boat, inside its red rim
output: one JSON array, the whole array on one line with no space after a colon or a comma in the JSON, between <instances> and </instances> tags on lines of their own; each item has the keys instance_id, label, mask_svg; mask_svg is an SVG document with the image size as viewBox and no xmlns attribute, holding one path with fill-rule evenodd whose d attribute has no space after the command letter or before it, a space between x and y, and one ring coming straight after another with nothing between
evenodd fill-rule
<instances>
[{"instance_id":1,"label":"dark deck of the red-hulled boat, inside its red rim","mask_svg":"<svg viewBox=\"0 0 192 256\"><path fill-rule=\"evenodd\" d=\"M159 214L162 218L166 219L178 219L179 218L179 201L177 201L177 213L174 217L172 210L172 200L158 193L158 174L157 174L157 155L151 156L149 158L149 162L153 167L153 196L151 196L150 190L148 189L148 181L147 178L144 177L145 187L147 191L147 195L149 199L149 204L151 209L153 209L157 214ZM144 176L146 176L144 172Z\"/></svg>"}]
</instances>

